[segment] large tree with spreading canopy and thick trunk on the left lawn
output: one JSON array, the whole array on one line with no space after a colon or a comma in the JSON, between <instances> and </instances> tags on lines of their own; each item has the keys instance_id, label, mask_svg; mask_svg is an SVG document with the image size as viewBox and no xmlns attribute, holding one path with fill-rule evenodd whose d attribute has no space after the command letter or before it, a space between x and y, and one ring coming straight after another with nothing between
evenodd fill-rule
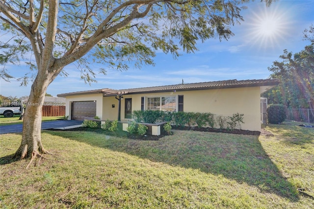
<instances>
[{"instance_id":1,"label":"large tree with spreading canopy and thick trunk on the left lawn","mask_svg":"<svg viewBox=\"0 0 314 209\"><path fill-rule=\"evenodd\" d=\"M94 81L90 62L128 69L153 64L156 50L179 55L197 50L198 40L229 39L230 26L242 21L240 4L247 0L0 0L1 30L13 34L1 43L0 62L25 61L31 80L18 158L48 153L41 143L41 106L48 85L77 62L81 78ZM269 4L270 0L266 0ZM178 43L178 44L176 44ZM100 69L105 73L104 69ZM5 69L0 76L12 76Z\"/></svg>"}]
</instances>

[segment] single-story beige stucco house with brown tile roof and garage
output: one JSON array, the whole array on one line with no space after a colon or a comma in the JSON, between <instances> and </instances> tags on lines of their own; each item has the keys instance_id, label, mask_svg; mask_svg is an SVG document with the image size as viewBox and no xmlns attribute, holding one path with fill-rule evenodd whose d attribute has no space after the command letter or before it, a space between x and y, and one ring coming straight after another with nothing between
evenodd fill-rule
<instances>
[{"instance_id":1,"label":"single-story beige stucco house with brown tile roof and garage","mask_svg":"<svg viewBox=\"0 0 314 209\"><path fill-rule=\"evenodd\" d=\"M121 90L104 88L57 96L66 98L65 115L69 120L98 116L102 120L131 121L132 111L147 109L223 116L241 113L243 130L261 131L261 94L278 84L278 79L234 79Z\"/></svg>"}]
</instances>

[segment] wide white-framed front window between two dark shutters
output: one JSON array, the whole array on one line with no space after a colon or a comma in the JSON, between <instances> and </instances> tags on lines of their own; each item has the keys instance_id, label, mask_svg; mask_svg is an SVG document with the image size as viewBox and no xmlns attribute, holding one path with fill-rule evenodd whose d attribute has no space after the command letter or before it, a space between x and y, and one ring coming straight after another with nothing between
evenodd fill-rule
<instances>
[{"instance_id":1,"label":"wide white-framed front window between two dark shutters","mask_svg":"<svg viewBox=\"0 0 314 209\"><path fill-rule=\"evenodd\" d=\"M147 109L176 112L177 97L148 97Z\"/></svg>"}]
</instances>

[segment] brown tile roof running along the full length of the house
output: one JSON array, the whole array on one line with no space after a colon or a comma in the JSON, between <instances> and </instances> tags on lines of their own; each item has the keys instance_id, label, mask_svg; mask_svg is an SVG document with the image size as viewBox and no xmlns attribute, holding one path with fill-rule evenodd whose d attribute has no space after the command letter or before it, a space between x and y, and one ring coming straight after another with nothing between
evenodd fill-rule
<instances>
[{"instance_id":1,"label":"brown tile roof running along the full length of the house","mask_svg":"<svg viewBox=\"0 0 314 209\"><path fill-rule=\"evenodd\" d=\"M279 84L279 79L252 79L252 80L221 80L210 81L200 83L186 83L166 86L153 86L143 88L131 88L131 89L98 89L91 91L81 91L66 94L59 94L59 96L71 96L79 94L93 94L103 93L104 96L113 96L116 94L141 94L141 93L157 93L157 92L169 92L169 91L192 91L192 90L206 90L206 89L222 89L222 88L240 88L240 87L255 87L255 86L276 86Z\"/></svg>"}]
</instances>

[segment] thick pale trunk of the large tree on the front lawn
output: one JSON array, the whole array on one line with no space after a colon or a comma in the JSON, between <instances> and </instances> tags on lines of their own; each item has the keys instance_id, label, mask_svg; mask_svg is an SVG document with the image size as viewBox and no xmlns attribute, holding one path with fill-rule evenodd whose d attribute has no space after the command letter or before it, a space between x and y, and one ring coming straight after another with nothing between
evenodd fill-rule
<instances>
[{"instance_id":1,"label":"thick pale trunk of the large tree on the front lawn","mask_svg":"<svg viewBox=\"0 0 314 209\"><path fill-rule=\"evenodd\" d=\"M39 78L39 76L37 76ZM47 77L35 79L31 86L29 99L26 104L23 121L22 142L15 153L15 158L23 159L26 157L40 156L48 153L41 143L41 122L42 105L44 104L45 93L49 85Z\"/></svg>"}]
</instances>

